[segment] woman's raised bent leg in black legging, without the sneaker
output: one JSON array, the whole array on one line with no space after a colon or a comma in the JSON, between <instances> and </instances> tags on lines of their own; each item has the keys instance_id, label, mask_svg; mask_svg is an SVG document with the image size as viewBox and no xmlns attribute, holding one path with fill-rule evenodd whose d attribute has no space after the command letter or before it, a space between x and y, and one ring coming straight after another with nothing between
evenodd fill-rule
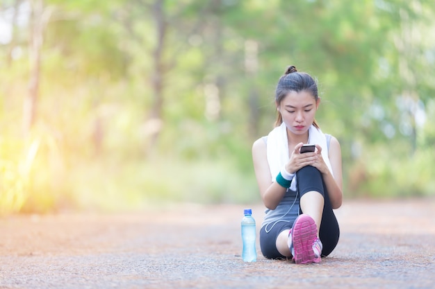
<instances>
[{"instance_id":1,"label":"woman's raised bent leg in black legging, without the sneaker","mask_svg":"<svg viewBox=\"0 0 435 289\"><path fill-rule=\"evenodd\" d=\"M322 174L313 166L305 166L297 171L296 177L301 211L314 219L323 245L322 256L327 256L338 243L340 229Z\"/></svg>"}]
</instances>

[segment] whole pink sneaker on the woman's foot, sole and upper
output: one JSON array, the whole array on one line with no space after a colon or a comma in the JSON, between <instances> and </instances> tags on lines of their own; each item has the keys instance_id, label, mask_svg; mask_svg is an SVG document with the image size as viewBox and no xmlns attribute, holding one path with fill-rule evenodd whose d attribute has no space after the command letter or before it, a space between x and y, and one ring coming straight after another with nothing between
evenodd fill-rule
<instances>
[{"instance_id":1,"label":"whole pink sneaker on the woman's foot, sole and upper","mask_svg":"<svg viewBox=\"0 0 435 289\"><path fill-rule=\"evenodd\" d=\"M313 218L306 214L296 218L288 236L288 247L296 264L320 262L322 242L317 238Z\"/></svg>"}]
</instances>

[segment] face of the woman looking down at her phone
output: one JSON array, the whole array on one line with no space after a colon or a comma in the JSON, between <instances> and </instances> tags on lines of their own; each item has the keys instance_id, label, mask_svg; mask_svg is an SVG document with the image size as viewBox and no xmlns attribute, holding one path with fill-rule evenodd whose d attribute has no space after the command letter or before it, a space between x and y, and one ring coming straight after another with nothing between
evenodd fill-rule
<instances>
[{"instance_id":1,"label":"face of the woman looking down at her phone","mask_svg":"<svg viewBox=\"0 0 435 289\"><path fill-rule=\"evenodd\" d=\"M313 124L319 103L320 98L315 100L309 91L290 91L277 107L287 129L294 134L304 134Z\"/></svg>"}]
</instances>

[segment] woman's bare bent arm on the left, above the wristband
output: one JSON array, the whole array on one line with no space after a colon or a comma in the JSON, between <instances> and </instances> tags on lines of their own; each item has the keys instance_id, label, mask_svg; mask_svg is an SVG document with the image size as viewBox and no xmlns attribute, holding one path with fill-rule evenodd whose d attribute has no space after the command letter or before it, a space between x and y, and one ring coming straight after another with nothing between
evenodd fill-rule
<instances>
[{"instance_id":1,"label":"woman's bare bent arm on the left, above the wristband","mask_svg":"<svg viewBox=\"0 0 435 289\"><path fill-rule=\"evenodd\" d=\"M286 189L277 182L272 182L266 144L263 139L257 139L252 145L252 160L254 161L254 171L258 189L260 189L261 200L263 200L266 208L274 210L284 198Z\"/></svg>"}]
</instances>

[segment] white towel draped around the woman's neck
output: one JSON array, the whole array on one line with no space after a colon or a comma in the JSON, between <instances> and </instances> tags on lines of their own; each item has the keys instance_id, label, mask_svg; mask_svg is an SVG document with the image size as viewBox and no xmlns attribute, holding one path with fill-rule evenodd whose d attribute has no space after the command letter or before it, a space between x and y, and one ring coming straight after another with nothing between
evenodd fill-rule
<instances>
[{"instance_id":1,"label":"white towel draped around the woman's neck","mask_svg":"<svg viewBox=\"0 0 435 289\"><path fill-rule=\"evenodd\" d=\"M309 144L318 144L322 148L322 157L327 164L329 171L332 174L331 163L328 157L328 146L325 134L323 134L320 128L315 128L311 125L309 128ZM267 157L270 168L270 174L272 175L272 182L275 182L275 177L281 171L281 168L290 159L288 154L288 139L287 128L285 123L281 123L277 128L274 128L268 135ZM290 189L296 191L296 176L290 185Z\"/></svg>"}]
</instances>

